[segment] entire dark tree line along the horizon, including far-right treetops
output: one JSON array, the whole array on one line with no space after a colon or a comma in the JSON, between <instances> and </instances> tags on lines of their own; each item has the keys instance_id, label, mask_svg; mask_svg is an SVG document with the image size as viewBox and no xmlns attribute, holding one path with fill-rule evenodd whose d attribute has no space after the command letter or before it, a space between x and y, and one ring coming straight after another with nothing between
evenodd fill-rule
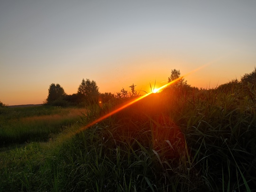
<instances>
[{"instance_id":1,"label":"entire dark tree line along the horizon, including far-right treetops","mask_svg":"<svg viewBox=\"0 0 256 192\"><path fill-rule=\"evenodd\" d=\"M199 91L197 87L192 87L181 77L180 70L173 69L171 71L171 75L168 77L168 82L172 82L175 79L180 78L179 81L169 85L162 92L168 95L180 95L187 94L192 91ZM232 91L233 89L238 89L238 87L242 87L243 85L251 85L256 86L256 69L252 73L246 73L241 77L241 81L237 79L232 80L228 83L224 83L219 85L216 89L219 91ZM77 92L68 95L65 93L63 87L60 84L52 83L48 89L48 97L44 101L46 105L53 106L69 106L69 105L89 105L93 103L108 102L113 99L126 99L139 96L139 93L135 90L134 84L129 86L131 89L130 92L126 91L124 88L121 89L120 92L113 94L110 92L100 93L99 87L94 80L90 79L82 79L81 84L78 86ZM150 85L151 86L151 85ZM153 90L151 90L153 91Z\"/></svg>"}]
</instances>

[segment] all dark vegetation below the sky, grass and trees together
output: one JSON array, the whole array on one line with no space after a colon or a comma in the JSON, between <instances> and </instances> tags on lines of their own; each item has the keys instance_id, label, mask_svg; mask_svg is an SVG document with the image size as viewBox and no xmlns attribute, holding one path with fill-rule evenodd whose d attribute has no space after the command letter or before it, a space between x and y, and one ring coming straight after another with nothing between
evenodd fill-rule
<instances>
[{"instance_id":1,"label":"all dark vegetation below the sky, grass and trees together","mask_svg":"<svg viewBox=\"0 0 256 192\"><path fill-rule=\"evenodd\" d=\"M102 94L83 80L68 96L51 84L45 106L1 104L0 191L255 191L256 70L210 90L181 79L81 129L137 99L135 86Z\"/></svg>"}]
</instances>

